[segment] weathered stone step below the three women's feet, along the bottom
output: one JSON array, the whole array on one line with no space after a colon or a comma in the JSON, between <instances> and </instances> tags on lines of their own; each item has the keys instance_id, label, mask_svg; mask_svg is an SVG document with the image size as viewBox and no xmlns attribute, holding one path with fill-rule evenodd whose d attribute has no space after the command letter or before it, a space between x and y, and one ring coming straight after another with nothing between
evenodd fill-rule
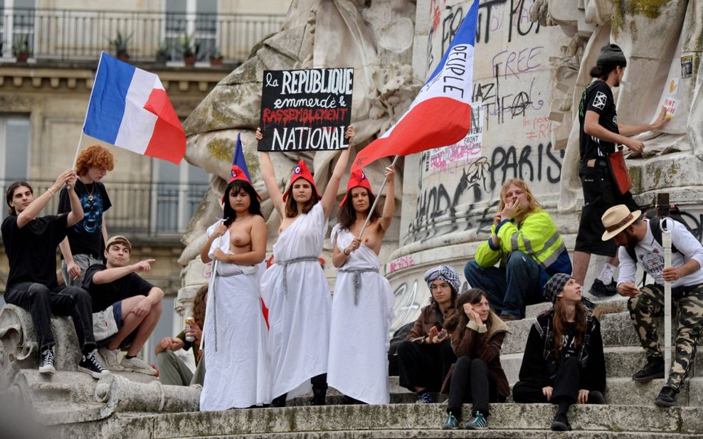
<instances>
[{"instance_id":1,"label":"weathered stone step below the three women's feet, along the bottom","mask_svg":"<svg viewBox=\"0 0 703 439\"><path fill-rule=\"evenodd\" d=\"M391 404L388 406L287 407L174 413L154 417L152 438L348 437L359 438L554 437L549 432L555 407L551 404L492 404L490 427L485 432L443 432L443 404ZM470 406L463 407L464 419ZM581 437L666 437L703 431L703 408L655 406L572 406L569 421ZM189 425L187 435L179 425ZM316 433L317 432L317 433ZM618 434L615 434L618 433ZM334 436L331 436L334 434ZM642 436L642 435L645 436ZM662 436L664 437L664 436Z\"/></svg>"}]
</instances>

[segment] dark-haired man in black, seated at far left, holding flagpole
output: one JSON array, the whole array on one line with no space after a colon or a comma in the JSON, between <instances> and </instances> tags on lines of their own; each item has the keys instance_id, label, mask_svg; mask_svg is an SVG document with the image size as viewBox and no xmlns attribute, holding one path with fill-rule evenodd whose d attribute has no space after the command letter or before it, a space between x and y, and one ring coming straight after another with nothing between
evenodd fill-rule
<instances>
[{"instance_id":1,"label":"dark-haired man in black, seated at far left, holding flagpole","mask_svg":"<svg viewBox=\"0 0 703 439\"><path fill-rule=\"evenodd\" d=\"M10 216L5 218L1 226L10 265L5 302L22 307L31 314L41 353L41 374L56 373L53 365L53 346L56 343L51 333L53 313L73 319L83 352L78 370L100 378L109 372L95 358L90 295L79 287L59 287L56 280L56 246L65 238L66 229L83 218L83 208L73 191L75 179L73 169L63 172L36 199L31 186L24 181L15 181L7 189L5 199ZM36 217L63 185L70 199L70 212Z\"/></svg>"}]
</instances>

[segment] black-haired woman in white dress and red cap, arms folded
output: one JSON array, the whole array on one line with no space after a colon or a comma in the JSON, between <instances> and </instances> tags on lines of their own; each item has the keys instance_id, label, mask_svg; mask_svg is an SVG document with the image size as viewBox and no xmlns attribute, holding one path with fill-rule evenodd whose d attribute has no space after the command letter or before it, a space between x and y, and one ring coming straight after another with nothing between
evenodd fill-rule
<instances>
[{"instance_id":1,"label":"black-haired woman in white dress and red cap, arms folded","mask_svg":"<svg viewBox=\"0 0 703 439\"><path fill-rule=\"evenodd\" d=\"M201 411L270 403L266 323L261 312L258 264L268 229L259 196L239 166L225 189L225 220L208 228L203 263L218 260L214 291L208 292L203 338L208 365ZM220 239L217 239L221 237Z\"/></svg>"}]
</instances>

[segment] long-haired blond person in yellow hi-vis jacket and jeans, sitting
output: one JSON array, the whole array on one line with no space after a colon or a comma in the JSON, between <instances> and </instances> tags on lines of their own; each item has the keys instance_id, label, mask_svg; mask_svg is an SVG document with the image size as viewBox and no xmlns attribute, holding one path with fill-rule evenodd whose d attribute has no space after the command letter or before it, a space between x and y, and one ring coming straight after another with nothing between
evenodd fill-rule
<instances>
[{"instance_id":1,"label":"long-haired blond person in yellow hi-vis jacket and jeans, sitting","mask_svg":"<svg viewBox=\"0 0 703 439\"><path fill-rule=\"evenodd\" d=\"M506 181L491 237L466 264L466 280L488 293L490 307L500 318L517 320L524 317L525 306L544 301L542 287L556 273L571 273L571 260L554 220L527 183Z\"/></svg>"}]
</instances>

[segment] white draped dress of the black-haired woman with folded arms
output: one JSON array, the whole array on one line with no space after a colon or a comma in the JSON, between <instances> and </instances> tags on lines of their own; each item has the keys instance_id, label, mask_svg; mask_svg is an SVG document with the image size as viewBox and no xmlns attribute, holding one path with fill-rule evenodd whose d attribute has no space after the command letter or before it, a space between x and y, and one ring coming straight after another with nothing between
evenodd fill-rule
<instances>
[{"instance_id":1,"label":"white draped dress of the black-haired woman with folded arms","mask_svg":"<svg viewBox=\"0 0 703 439\"><path fill-rule=\"evenodd\" d=\"M218 224L208 228L208 236ZM229 231L213 242L210 258L218 243L223 252L231 253ZM215 294L208 292L208 315L203 331L207 370L200 395L201 411L271 402L268 334L261 312L259 270L259 265L218 263Z\"/></svg>"}]
</instances>

